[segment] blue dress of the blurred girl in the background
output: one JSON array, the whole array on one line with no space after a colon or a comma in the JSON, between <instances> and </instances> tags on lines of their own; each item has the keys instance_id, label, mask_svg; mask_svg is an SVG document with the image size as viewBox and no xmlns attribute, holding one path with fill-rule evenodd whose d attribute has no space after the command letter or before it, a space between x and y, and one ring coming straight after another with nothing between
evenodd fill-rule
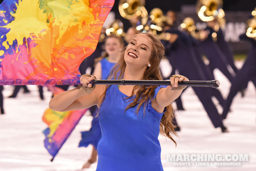
<instances>
[{"instance_id":1,"label":"blue dress of the blurred girl in the background","mask_svg":"<svg viewBox=\"0 0 256 171\"><path fill-rule=\"evenodd\" d=\"M103 58L101 61L102 75L101 79L106 80L111 72L111 69L116 63L110 63L107 58ZM93 120L91 121L91 129L89 131L81 132L82 139L79 142L79 147L87 147L89 144L93 145L96 149L99 139L101 137L101 130L99 124L99 118L95 117L97 112L93 114Z\"/></svg>"}]
</instances>

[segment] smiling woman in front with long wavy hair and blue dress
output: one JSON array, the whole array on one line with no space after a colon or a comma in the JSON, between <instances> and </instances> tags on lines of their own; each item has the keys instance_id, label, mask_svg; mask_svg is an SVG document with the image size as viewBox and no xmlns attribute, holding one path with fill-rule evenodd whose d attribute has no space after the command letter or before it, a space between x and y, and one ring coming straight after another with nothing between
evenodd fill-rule
<instances>
[{"instance_id":1,"label":"smiling woman in front with long wavy hair and blue dress","mask_svg":"<svg viewBox=\"0 0 256 171\"><path fill-rule=\"evenodd\" d=\"M113 79L161 80L160 60L165 49L153 35L139 33L125 47L113 69ZM110 79L111 79L110 78ZM170 86L97 85L92 75L82 75L79 87L54 96L49 107L69 111L96 105L99 109L101 138L97 171L162 171L159 132L174 139L172 124L174 101L185 88L170 77ZM176 143L174 141L174 143Z\"/></svg>"}]
</instances>

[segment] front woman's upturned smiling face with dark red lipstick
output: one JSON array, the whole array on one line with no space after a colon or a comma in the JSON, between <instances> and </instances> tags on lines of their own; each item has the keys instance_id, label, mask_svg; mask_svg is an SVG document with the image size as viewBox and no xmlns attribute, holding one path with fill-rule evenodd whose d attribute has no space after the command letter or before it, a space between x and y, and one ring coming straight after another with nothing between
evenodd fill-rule
<instances>
[{"instance_id":1,"label":"front woman's upturned smiling face with dark red lipstick","mask_svg":"<svg viewBox=\"0 0 256 171\"><path fill-rule=\"evenodd\" d=\"M147 68L153 50L153 42L147 35L137 35L128 44L124 60L126 65L132 65L137 69Z\"/></svg>"}]
</instances>

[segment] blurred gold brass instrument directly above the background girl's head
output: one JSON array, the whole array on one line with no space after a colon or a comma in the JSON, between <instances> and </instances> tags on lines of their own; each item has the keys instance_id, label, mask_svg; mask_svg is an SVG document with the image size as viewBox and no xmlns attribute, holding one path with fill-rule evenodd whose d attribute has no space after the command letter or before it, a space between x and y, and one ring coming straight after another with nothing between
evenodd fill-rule
<instances>
[{"instance_id":1,"label":"blurred gold brass instrument directly above the background girl's head","mask_svg":"<svg viewBox=\"0 0 256 171\"><path fill-rule=\"evenodd\" d=\"M120 20L115 20L106 28L106 35L125 36L124 24Z\"/></svg>"}]
</instances>

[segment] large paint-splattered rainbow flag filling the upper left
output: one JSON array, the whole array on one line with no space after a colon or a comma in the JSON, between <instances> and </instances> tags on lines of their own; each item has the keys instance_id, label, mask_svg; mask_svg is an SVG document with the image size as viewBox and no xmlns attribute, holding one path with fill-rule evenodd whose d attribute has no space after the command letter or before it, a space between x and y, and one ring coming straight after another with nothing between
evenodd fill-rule
<instances>
[{"instance_id":1,"label":"large paint-splattered rainbow flag filling the upper left","mask_svg":"<svg viewBox=\"0 0 256 171\"><path fill-rule=\"evenodd\" d=\"M114 0L4 0L0 85L79 84Z\"/></svg>"}]
</instances>

